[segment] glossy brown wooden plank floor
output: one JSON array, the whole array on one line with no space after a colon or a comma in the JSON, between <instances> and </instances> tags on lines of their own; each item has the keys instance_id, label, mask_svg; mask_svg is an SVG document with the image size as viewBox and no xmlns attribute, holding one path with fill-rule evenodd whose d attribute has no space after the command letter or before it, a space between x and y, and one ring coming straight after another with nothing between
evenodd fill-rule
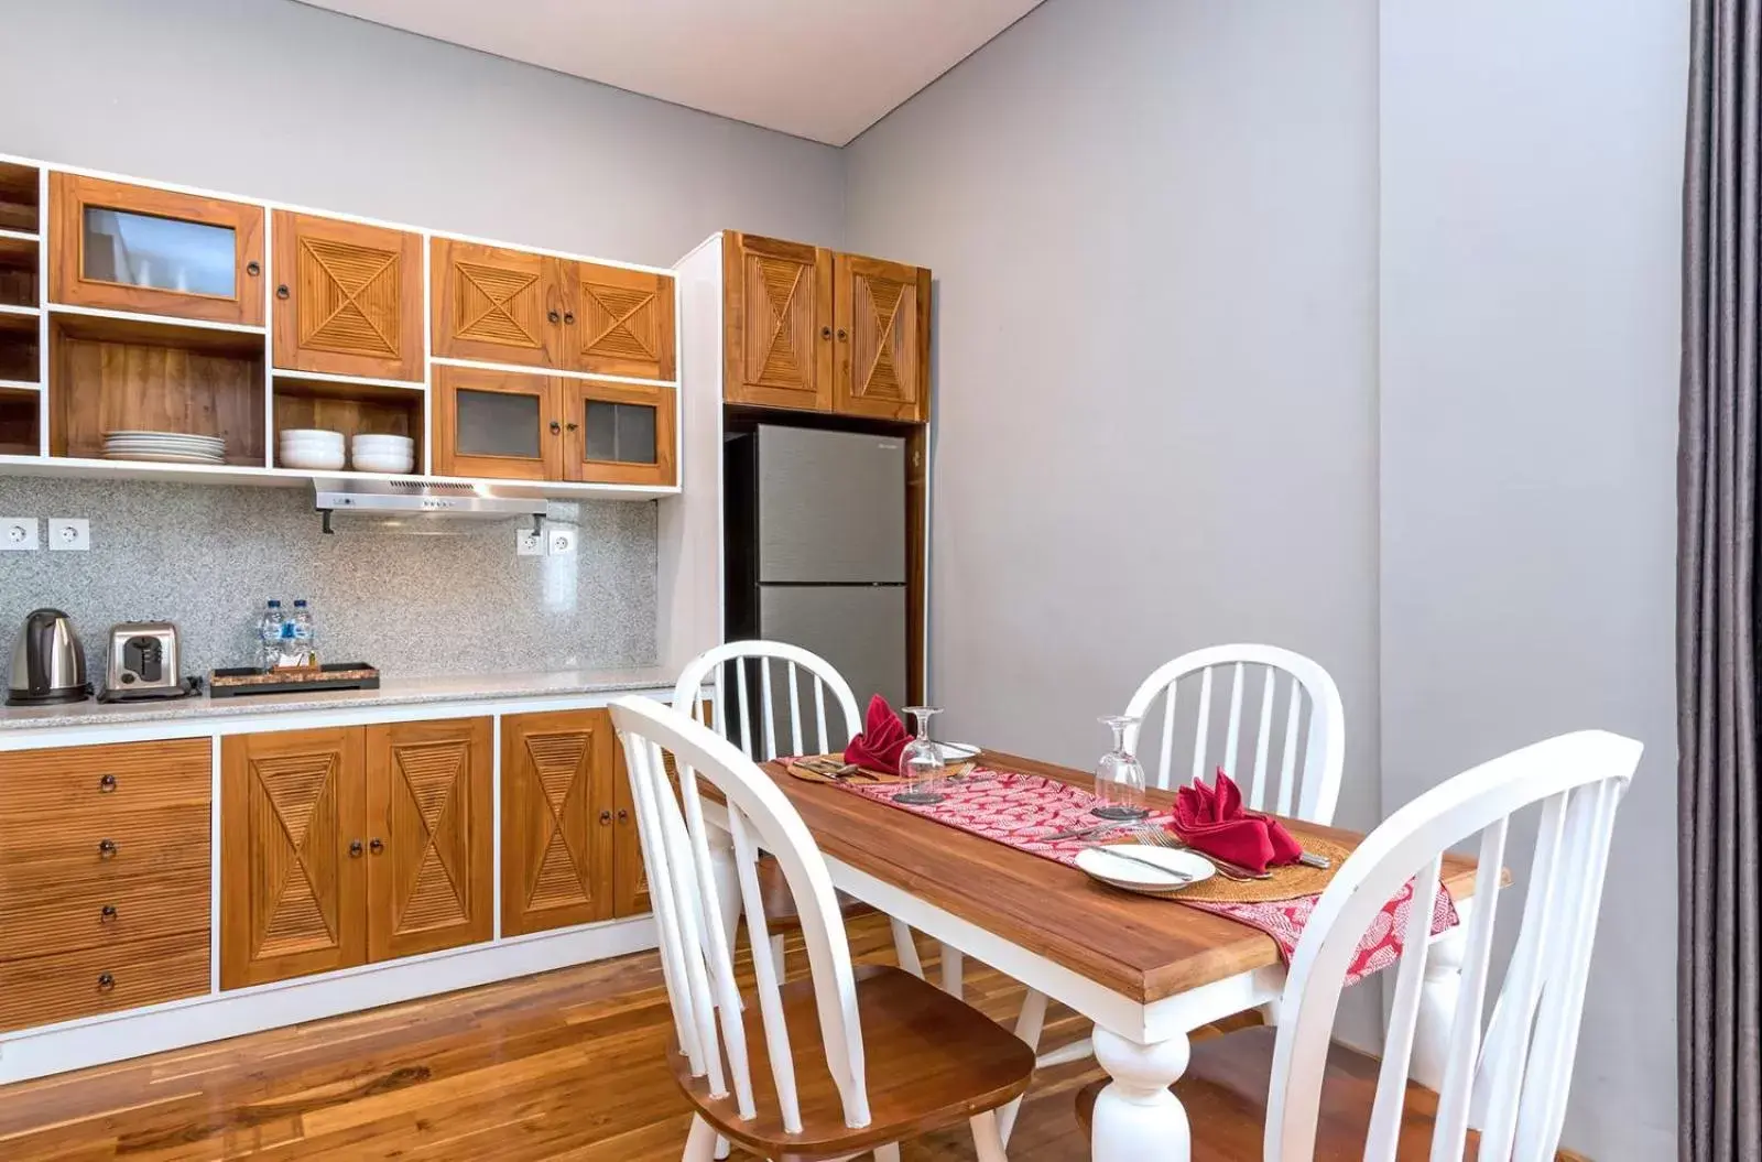
<instances>
[{"instance_id":1,"label":"glossy brown wooden plank floor","mask_svg":"<svg viewBox=\"0 0 1762 1162\"><path fill-rule=\"evenodd\" d=\"M855 922L851 952L892 963L886 924ZM971 1003L1013 1019L1020 996L967 961ZM0 1088L0 1158L673 1162L689 1118L670 1024L655 957L631 956ZM1087 1032L1054 1005L1043 1046ZM1036 1076L1011 1162L1085 1160L1073 1097L1098 1076L1092 1060ZM973 1139L962 1127L902 1155L973 1158Z\"/></svg>"}]
</instances>

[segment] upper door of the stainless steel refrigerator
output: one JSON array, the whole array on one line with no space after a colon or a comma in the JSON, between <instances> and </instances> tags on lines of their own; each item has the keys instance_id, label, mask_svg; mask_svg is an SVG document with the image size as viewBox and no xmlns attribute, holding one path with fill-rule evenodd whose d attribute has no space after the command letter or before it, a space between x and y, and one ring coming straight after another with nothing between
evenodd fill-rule
<instances>
[{"instance_id":1,"label":"upper door of the stainless steel refrigerator","mask_svg":"<svg viewBox=\"0 0 1762 1162\"><path fill-rule=\"evenodd\" d=\"M906 441L759 425L759 584L904 584Z\"/></svg>"}]
</instances>

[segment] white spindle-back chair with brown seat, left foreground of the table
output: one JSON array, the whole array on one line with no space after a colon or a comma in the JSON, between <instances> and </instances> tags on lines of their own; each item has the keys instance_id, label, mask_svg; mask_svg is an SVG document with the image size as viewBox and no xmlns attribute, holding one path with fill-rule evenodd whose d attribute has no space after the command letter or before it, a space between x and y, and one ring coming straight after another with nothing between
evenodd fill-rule
<instances>
[{"instance_id":1,"label":"white spindle-back chair with brown seat, left foreground of the table","mask_svg":"<svg viewBox=\"0 0 1762 1162\"><path fill-rule=\"evenodd\" d=\"M717 1136L765 1158L899 1162L899 1141L971 1123L980 1162L1004 1162L996 1109L1018 1097L1034 1054L985 1014L911 973L851 965L826 862L782 790L728 739L648 698L611 704L624 741L648 869L661 966L673 1007L668 1049L696 1107L685 1162L708 1162ZM678 769L678 795L663 751ZM756 996L735 982L698 779L721 792L738 887L765 940L759 848L796 898L809 979L782 984L752 957ZM749 1061L763 1042L768 1070Z\"/></svg>"}]
</instances>

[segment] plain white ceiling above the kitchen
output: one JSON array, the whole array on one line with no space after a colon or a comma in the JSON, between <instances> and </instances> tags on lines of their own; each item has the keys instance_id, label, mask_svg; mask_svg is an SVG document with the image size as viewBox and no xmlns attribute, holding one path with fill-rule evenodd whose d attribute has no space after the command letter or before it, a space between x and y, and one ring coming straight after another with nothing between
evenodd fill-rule
<instances>
[{"instance_id":1,"label":"plain white ceiling above the kitchen","mask_svg":"<svg viewBox=\"0 0 1762 1162\"><path fill-rule=\"evenodd\" d=\"M846 145L1040 0L305 0Z\"/></svg>"}]
</instances>

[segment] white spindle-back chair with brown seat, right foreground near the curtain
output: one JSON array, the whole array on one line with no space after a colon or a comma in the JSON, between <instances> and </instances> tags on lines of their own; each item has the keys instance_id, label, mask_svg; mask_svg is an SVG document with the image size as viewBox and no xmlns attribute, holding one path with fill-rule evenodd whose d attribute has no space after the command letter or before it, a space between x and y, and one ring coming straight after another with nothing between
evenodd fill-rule
<instances>
[{"instance_id":1,"label":"white spindle-back chair with brown seat, right foreground near the curtain","mask_svg":"<svg viewBox=\"0 0 1762 1162\"><path fill-rule=\"evenodd\" d=\"M1559 1146L1584 982L1609 866L1616 808L1640 744L1600 730L1559 735L1466 771L1396 811L1341 866L1292 957L1277 1030L1193 1046L1173 1093L1193 1127L1193 1158L1265 1162L1364 1157L1538 1162ZM1517 931L1492 1016L1484 1021L1510 820L1540 806ZM1438 1091L1408 1081L1447 850L1478 836L1462 980ZM1394 1003L1378 1061L1330 1042L1353 952L1403 883L1415 885ZM1323 1091L1327 1099L1323 1100ZM1136 1102L1099 1086L1078 1099ZM1128 1114L1129 1118L1129 1114ZM1473 1130L1470 1127L1475 1127ZM1094 1143L1096 1153L1103 1143Z\"/></svg>"}]
</instances>

